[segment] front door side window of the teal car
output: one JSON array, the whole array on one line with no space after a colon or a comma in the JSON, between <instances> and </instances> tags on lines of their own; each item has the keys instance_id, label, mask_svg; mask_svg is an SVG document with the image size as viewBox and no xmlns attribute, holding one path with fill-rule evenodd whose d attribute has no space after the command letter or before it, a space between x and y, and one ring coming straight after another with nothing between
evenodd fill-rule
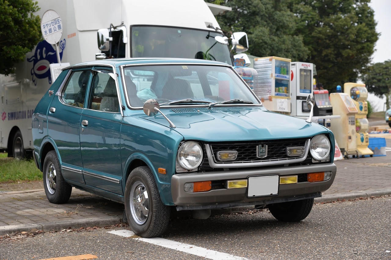
<instances>
[{"instance_id":1,"label":"front door side window of the teal car","mask_svg":"<svg viewBox=\"0 0 391 260\"><path fill-rule=\"evenodd\" d=\"M113 71L93 70L88 108L106 112L119 112L115 80L108 73Z\"/></svg>"}]
</instances>

